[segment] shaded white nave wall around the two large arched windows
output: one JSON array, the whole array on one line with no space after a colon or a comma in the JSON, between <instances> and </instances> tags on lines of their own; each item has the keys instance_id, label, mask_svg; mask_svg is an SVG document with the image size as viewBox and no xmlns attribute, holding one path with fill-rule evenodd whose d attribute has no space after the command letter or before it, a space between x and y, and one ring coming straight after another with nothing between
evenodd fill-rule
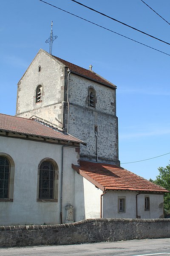
<instances>
[{"instance_id":1,"label":"shaded white nave wall around the two large arched windows","mask_svg":"<svg viewBox=\"0 0 170 256\"><path fill-rule=\"evenodd\" d=\"M0 225L60 223L60 177L62 145L0 137L0 152L9 154L15 163L14 201L0 202ZM37 202L38 165L44 158L52 158L59 169L58 202ZM75 148L64 148L63 222L65 206L74 206L74 171L77 164Z\"/></svg>"}]
</instances>

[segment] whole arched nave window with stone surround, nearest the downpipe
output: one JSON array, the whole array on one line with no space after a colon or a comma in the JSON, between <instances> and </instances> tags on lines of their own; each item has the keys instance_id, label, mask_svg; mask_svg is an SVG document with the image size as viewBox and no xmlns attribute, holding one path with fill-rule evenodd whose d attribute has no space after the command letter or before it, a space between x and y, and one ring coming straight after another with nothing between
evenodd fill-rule
<instances>
[{"instance_id":1,"label":"whole arched nave window with stone surround, nearest the downpipe","mask_svg":"<svg viewBox=\"0 0 170 256\"><path fill-rule=\"evenodd\" d=\"M38 170L38 201L55 200L58 195L58 168L54 160L45 159Z\"/></svg>"}]
</instances>

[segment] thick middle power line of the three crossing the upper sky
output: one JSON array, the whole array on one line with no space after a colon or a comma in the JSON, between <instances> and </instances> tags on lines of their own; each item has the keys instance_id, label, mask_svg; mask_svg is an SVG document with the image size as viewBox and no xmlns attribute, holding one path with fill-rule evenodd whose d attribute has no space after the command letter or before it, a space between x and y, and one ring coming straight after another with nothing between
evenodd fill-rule
<instances>
[{"instance_id":1,"label":"thick middle power line of the three crossing the upper sky","mask_svg":"<svg viewBox=\"0 0 170 256\"><path fill-rule=\"evenodd\" d=\"M114 20L114 21L116 21L116 22L119 22L119 23L121 23L121 24L123 24L123 25L125 25L125 26L127 26L127 27L129 27L129 28L131 28L131 29L134 29L134 30L136 30L136 31L138 31L138 32L140 32L140 33L142 33L142 34L144 34L144 35L148 35L148 36L150 36L151 38L154 38L154 39L159 40L159 41L161 41L161 42L163 42L163 43L165 43L165 44L170 45L170 43L168 43L168 42L166 42L166 41L163 41L163 40L161 40L161 39L159 39L159 38L156 38L156 37L153 36L153 35L147 34L146 32L144 32L144 31L142 31L142 30L136 29L135 27L130 26L130 25L128 25L128 24L126 24L126 23L124 23L124 22L122 22L122 21L120 21L120 20L116 20L115 18L110 17L110 16L108 16L108 15L102 13L102 12L99 12L99 11L97 11L97 10L95 10L95 9L93 9L93 8L91 8L91 7L89 7L89 6L86 6L86 5L82 4L82 3L79 3L79 2L77 2L76 0L71 0L71 1L73 1L73 2L75 2L75 3L78 3L79 5L84 6L85 8L90 9L91 11L97 12L97 13L99 13L99 14L105 16L105 17L108 17L108 18L111 19L111 20Z\"/></svg>"}]
</instances>

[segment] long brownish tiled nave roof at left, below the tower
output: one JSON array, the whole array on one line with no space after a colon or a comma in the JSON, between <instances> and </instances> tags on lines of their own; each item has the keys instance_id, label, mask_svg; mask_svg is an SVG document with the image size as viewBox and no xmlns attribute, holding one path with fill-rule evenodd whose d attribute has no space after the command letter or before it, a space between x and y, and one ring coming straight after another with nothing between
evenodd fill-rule
<instances>
[{"instance_id":1,"label":"long brownish tiled nave roof at left, below the tower","mask_svg":"<svg viewBox=\"0 0 170 256\"><path fill-rule=\"evenodd\" d=\"M57 131L56 128L49 127L40 121L5 114L0 114L0 130L83 143L81 140L71 135L63 134L61 131Z\"/></svg>"}]
</instances>

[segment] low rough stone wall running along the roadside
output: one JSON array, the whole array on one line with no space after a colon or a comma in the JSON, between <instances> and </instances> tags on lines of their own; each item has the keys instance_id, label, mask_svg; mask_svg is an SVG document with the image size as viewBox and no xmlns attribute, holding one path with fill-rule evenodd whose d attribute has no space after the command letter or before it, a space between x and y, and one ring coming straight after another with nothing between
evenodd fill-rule
<instances>
[{"instance_id":1,"label":"low rough stone wall running along the roadside","mask_svg":"<svg viewBox=\"0 0 170 256\"><path fill-rule=\"evenodd\" d=\"M70 224L0 226L0 247L170 238L170 219L86 219Z\"/></svg>"}]
</instances>

